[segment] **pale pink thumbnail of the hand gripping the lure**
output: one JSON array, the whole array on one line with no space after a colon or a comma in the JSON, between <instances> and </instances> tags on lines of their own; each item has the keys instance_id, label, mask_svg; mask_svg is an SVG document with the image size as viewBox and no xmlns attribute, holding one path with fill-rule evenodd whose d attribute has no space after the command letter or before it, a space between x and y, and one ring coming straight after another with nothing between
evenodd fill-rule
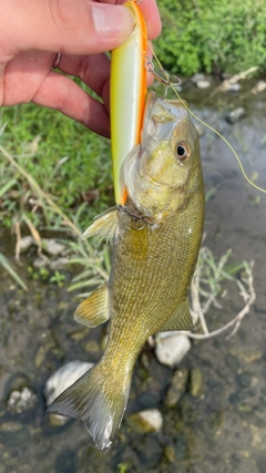
<instances>
[{"instance_id":1,"label":"pale pink thumbnail of the hand gripping the lure","mask_svg":"<svg viewBox=\"0 0 266 473\"><path fill-rule=\"evenodd\" d=\"M134 20L123 6L94 4L92 18L96 33L104 37L129 37L134 29Z\"/></svg>"}]
</instances>

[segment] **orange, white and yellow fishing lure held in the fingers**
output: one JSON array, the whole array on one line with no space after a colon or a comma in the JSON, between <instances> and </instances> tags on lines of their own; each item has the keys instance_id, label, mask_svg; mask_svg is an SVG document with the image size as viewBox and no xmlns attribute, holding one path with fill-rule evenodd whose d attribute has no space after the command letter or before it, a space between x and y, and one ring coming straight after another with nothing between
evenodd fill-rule
<instances>
[{"instance_id":1,"label":"orange, white and yellow fishing lure held in the fingers","mask_svg":"<svg viewBox=\"0 0 266 473\"><path fill-rule=\"evenodd\" d=\"M121 168L127 154L141 141L146 97L146 23L139 4L126 1L134 20L129 40L111 56L110 121L115 204L124 205L127 193L121 182Z\"/></svg>"}]
</instances>

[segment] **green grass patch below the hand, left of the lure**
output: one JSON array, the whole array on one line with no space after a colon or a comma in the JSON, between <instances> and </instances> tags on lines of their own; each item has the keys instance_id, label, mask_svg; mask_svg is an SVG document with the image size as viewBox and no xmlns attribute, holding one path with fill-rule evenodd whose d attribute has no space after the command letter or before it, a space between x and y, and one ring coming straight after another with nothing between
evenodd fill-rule
<instances>
[{"instance_id":1,"label":"green grass patch below the hand, left of the lure","mask_svg":"<svg viewBox=\"0 0 266 473\"><path fill-rule=\"evenodd\" d=\"M54 197L63 212L89 200L94 206L84 210L88 224L95 213L108 207L112 196L108 140L57 111L33 104L1 109L0 131L0 144ZM0 223L9 226L10 216L19 210L21 203L29 208L27 203L37 196L2 157L0 182Z\"/></svg>"}]
</instances>

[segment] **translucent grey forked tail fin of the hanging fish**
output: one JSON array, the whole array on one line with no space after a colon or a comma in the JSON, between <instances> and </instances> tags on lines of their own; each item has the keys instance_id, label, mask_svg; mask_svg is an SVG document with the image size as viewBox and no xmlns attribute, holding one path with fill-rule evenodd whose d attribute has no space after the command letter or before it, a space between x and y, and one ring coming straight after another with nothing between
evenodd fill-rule
<instances>
[{"instance_id":1,"label":"translucent grey forked tail fin of the hanging fish","mask_svg":"<svg viewBox=\"0 0 266 473\"><path fill-rule=\"evenodd\" d=\"M120 382L113 373L102 371L101 363L91 368L52 402L48 412L81 419L98 449L106 451L123 419L131 376Z\"/></svg>"}]
</instances>

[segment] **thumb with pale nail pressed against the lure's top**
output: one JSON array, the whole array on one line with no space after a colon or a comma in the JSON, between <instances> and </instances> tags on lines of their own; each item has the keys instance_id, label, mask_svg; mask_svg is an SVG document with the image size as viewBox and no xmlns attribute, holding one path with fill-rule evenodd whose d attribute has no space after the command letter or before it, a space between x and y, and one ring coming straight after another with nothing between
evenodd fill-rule
<instances>
[{"instance_id":1,"label":"thumb with pale nail pressed against the lure's top","mask_svg":"<svg viewBox=\"0 0 266 473\"><path fill-rule=\"evenodd\" d=\"M0 19L1 44L11 54L104 52L122 44L134 28L125 7L92 0L1 0Z\"/></svg>"}]
</instances>

